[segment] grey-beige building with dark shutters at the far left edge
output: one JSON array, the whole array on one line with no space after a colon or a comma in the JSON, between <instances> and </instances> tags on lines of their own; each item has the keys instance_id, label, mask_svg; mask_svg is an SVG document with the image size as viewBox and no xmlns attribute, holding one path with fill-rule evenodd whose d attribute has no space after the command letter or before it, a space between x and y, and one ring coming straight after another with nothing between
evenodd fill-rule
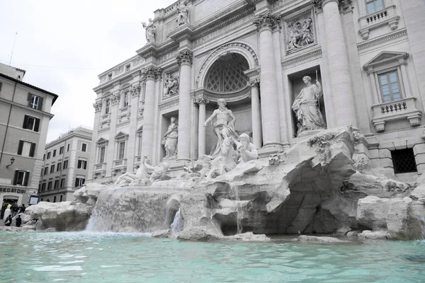
<instances>
[{"instance_id":1,"label":"grey-beige building with dark shutters at the far left edge","mask_svg":"<svg viewBox=\"0 0 425 283\"><path fill-rule=\"evenodd\" d=\"M57 94L0 64L0 204L36 204L47 129Z\"/></svg>"}]
</instances>

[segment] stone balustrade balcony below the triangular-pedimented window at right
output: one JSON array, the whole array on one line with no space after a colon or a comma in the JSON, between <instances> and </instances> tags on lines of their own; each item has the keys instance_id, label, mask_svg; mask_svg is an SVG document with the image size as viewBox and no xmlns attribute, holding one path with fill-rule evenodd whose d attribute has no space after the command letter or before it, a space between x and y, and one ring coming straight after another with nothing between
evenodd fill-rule
<instances>
[{"instance_id":1,"label":"stone balustrade balcony below the triangular-pedimented window at right","mask_svg":"<svg viewBox=\"0 0 425 283\"><path fill-rule=\"evenodd\" d=\"M372 124L376 132L385 131L385 123L407 119L412 127L421 125L422 111L416 108L416 98L408 97L372 106Z\"/></svg>"}]
</instances>

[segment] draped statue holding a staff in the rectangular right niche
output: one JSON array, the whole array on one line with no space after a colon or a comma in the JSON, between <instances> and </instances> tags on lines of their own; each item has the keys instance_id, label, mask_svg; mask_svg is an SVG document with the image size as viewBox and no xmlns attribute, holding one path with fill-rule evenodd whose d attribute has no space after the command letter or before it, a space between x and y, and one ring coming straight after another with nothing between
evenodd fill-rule
<instances>
[{"instance_id":1,"label":"draped statue holding a staff in the rectangular right niche","mask_svg":"<svg viewBox=\"0 0 425 283\"><path fill-rule=\"evenodd\" d=\"M312 84L311 80L310 76L302 78L306 86L302 88L292 106L295 115L297 115L297 136L301 132L312 129L326 129L326 123L319 110L322 85L317 80L316 84Z\"/></svg>"}]
</instances>

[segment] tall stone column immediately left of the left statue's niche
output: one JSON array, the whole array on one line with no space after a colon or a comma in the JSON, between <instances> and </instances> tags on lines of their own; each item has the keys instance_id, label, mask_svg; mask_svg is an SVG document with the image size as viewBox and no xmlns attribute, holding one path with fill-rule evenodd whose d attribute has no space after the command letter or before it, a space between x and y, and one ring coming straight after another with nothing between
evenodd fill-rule
<instances>
[{"instance_id":1,"label":"tall stone column immediately left of the left statue's niche","mask_svg":"<svg viewBox=\"0 0 425 283\"><path fill-rule=\"evenodd\" d=\"M142 69L146 78L145 108L143 111L142 156L147 155L152 161L152 147L154 144L154 112L155 112L155 80L161 74L161 68L150 66Z\"/></svg>"}]
</instances>

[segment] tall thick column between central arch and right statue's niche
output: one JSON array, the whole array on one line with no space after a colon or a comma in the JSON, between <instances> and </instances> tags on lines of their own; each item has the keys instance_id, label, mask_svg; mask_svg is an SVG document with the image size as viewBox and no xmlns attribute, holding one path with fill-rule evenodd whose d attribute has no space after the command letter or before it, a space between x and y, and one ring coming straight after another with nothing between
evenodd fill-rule
<instances>
[{"instance_id":1,"label":"tall thick column between central arch and right statue's niche","mask_svg":"<svg viewBox=\"0 0 425 283\"><path fill-rule=\"evenodd\" d=\"M260 33L261 117L264 125L267 125L267 127L263 127L263 146L281 144L276 68L271 34L276 21L270 11L254 20Z\"/></svg>"}]
</instances>

